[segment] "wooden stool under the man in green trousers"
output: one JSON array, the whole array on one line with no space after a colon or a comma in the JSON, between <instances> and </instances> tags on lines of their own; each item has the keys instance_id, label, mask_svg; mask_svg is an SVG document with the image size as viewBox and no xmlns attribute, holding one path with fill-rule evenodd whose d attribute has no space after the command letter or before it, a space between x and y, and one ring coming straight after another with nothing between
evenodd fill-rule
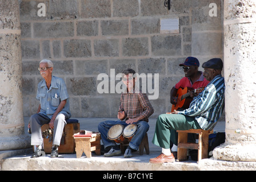
<instances>
[{"instance_id":1,"label":"wooden stool under the man in green trousers","mask_svg":"<svg viewBox=\"0 0 256 182\"><path fill-rule=\"evenodd\" d=\"M178 161L187 160L187 149L198 150L198 162L208 157L209 134L212 130L178 130ZM198 135L198 143L187 143L187 133Z\"/></svg>"}]
</instances>

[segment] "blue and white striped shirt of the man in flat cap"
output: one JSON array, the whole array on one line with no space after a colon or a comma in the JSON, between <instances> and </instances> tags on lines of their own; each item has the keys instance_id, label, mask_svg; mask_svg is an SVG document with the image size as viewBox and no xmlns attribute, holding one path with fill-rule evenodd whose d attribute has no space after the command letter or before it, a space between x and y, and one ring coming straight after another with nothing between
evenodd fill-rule
<instances>
[{"instance_id":1,"label":"blue and white striped shirt of the man in flat cap","mask_svg":"<svg viewBox=\"0 0 256 182\"><path fill-rule=\"evenodd\" d=\"M203 130L212 130L224 109L224 93L224 78L217 75L203 92L194 97L189 109L179 111L179 114L195 117Z\"/></svg>"}]
</instances>

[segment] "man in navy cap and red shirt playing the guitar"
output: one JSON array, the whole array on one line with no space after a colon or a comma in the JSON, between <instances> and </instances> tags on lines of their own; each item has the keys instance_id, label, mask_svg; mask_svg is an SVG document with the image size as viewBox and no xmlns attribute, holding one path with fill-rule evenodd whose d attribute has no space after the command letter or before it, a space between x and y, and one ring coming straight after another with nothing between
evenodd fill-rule
<instances>
[{"instance_id":1,"label":"man in navy cap and red shirt playing the guitar","mask_svg":"<svg viewBox=\"0 0 256 182\"><path fill-rule=\"evenodd\" d=\"M198 71L199 68L199 61L195 57L187 57L185 62L182 64L179 64L180 67L183 68L183 71L185 73L185 77L181 78L181 80L171 89L170 92L170 102L173 104L173 107L175 107L175 110L184 110L189 107L190 102L192 101L191 96L197 96L197 93L190 92L190 97L186 98L186 105L177 106L177 92L179 88L187 88L188 90L194 90L198 88L205 87L209 81L203 77L203 72ZM177 109L178 108L178 109ZM172 110L173 111L173 110ZM172 136L177 135L177 132L175 130L171 131L171 138L174 138ZM188 134L188 142L194 142L195 135L194 134ZM177 141L171 141L170 148L174 152L174 155L177 155ZM173 147L173 148L172 148Z\"/></svg>"}]
</instances>

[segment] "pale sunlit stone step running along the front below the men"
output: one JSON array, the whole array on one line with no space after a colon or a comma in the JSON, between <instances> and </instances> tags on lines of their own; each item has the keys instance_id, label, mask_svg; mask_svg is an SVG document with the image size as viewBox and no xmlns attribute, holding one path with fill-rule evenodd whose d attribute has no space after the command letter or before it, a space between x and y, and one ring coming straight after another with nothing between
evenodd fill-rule
<instances>
[{"instance_id":1,"label":"pale sunlit stone step running along the front below the men","mask_svg":"<svg viewBox=\"0 0 256 182\"><path fill-rule=\"evenodd\" d=\"M159 153L158 153L159 154ZM150 158L158 155L151 152L150 155L133 153L133 158L125 159L123 156L105 158L103 155L91 158L82 156L77 159L75 154L60 155L59 158L50 158L50 155L39 158L30 158L30 155L18 155L2 159L1 171L101 171L93 173L94 179L103 179L109 171L132 171L133 173L150 173L166 171L161 175L169 176L168 171L255 171L256 162L229 162L223 160L202 159L199 163L194 160L185 162L151 164ZM123 173L123 172L122 172ZM83 174L90 174L83 173ZM95 176L96 174L96 176ZM158 174L158 173L157 173ZM186 177L186 176L184 176Z\"/></svg>"}]
</instances>

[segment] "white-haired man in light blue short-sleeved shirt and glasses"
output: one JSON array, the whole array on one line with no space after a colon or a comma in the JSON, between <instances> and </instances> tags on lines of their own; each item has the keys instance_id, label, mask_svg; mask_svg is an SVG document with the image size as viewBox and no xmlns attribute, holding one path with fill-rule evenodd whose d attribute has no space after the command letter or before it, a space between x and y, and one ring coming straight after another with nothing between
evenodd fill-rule
<instances>
[{"instance_id":1,"label":"white-haired man in light blue short-sleeved shirt and glasses","mask_svg":"<svg viewBox=\"0 0 256 182\"><path fill-rule=\"evenodd\" d=\"M71 117L69 108L69 94L64 80L52 76L53 63L50 60L43 59L39 63L43 80L39 82L37 88L37 100L40 101L37 114L33 114L29 120L31 129L31 145L36 146L32 158L38 158L42 155L42 133L41 126L49 123L53 130L53 147L51 147L51 158L58 157L58 146L61 143L63 129L66 125L66 119Z\"/></svg>"}]
</instances>

